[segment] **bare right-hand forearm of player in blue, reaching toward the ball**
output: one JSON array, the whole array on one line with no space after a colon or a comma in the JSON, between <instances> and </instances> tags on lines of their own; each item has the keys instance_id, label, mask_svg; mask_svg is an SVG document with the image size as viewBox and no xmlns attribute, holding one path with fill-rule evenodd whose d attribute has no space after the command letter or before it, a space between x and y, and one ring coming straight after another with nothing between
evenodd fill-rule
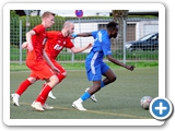
<instances>
[{"instance_id":1,"label":"bare right-hand forearm of player in blue, reaching toward the ball","mask_svg":"<svg viewBox=\"0 0 175 131\"><path fill-rule=\"evenodd\" d=\"M127 64L118 61L117 59L115 59L115 58L112 57L110 55L108 55L108 56L106 56L106 57L107 57L107 59L108 59L110 62L113 62L113 63L115 63L115 64L117 64L117 66L124 67L124 68L126 68L126 69L128 69L128 70L130 70L130 71L133 71L133 69L135 69L135 66L127 66Z\"/></svg>"}]
</instances>

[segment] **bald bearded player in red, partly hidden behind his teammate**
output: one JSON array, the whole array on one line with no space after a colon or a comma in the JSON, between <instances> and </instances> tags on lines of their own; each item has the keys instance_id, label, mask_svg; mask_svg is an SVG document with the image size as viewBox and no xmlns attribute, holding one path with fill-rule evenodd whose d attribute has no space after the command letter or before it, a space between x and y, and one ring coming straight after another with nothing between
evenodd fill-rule
<instances>
[{"instance_id":1,"label":"bald bearded player in red, partly hidden behind his teammate","mask_svg":"<svg viewBox=\"0 0 175 131\"><path fill-rule=\"evenodd\" d=\"M89 49L90 47L92 47L92 44L89 44L88 46L81 47L81 48L74 47L74 45L72 44L72 41L69 37L73 32L74 32L74 24L72 22L68 21L68 22L65 22L63 28L61 29L61 32L50 31L50 32L46 33L47 41L46 41L46 46L45 46L45 51L46 51L47 56L49 57L50 61L54 63L54 66L57 69L59 69L59 71L60 71L59 73L57 73L57 78L59 80L58 83L60 83L67 75L66 70L56 61L56 58L60 53L60 51L63 48L69 48L72 52L78 53L78 52L82 52L85 49ZM24 43L22 45L22 48L26 48L26 47L27 47L27 43ZM25 85L25 81L21 84L21 86L15 92L15 96L13 95L13 104L14 105L20 106L19 105L19 97L26 91L26 88L30 85L35 83L37 80L38 80L37 75L32 73L30 75L30 78L26 80L30 84ZM33 103L33 104L35 104L35 103ZM43 105L43 108L52 109L54 107L50 107L45 104L45 105Z\"/></svg>"}]
</instances>

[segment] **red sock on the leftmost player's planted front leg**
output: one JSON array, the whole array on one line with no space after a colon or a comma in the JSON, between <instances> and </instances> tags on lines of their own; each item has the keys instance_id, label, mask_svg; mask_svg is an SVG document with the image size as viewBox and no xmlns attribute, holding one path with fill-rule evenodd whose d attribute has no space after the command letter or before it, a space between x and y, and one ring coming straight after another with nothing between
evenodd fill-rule
<instances>
[{"instance_id":1,"label":"red sock on the leftmost player's planted front leg","mask_svg":"<svg viewBox=\"0 0 175 131\"><path fill-rule=\"evenodd\" d=\"M35 102L39 102L42 105L44 105L47 99L48 93L51 90L52 87L50 87L48 84L45 84Z\"/></svg>"}]
</instances>

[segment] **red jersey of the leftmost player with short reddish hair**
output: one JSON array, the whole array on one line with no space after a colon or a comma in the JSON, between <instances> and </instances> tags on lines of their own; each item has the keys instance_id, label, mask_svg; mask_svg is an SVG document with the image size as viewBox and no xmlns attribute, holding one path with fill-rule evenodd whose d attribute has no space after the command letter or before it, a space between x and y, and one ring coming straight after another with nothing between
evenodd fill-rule
<instances>
[{"instance_id":1,"label":"red jersey of the leftmost player with short reddish hair","mask_svg":"<svg viewBox=\"0 0 175 131\"><path fill-rule=\"evenodd\" d=\"M45 47L46 40L46 28L43 24L36 25L33 31L36 33L32 36L33 50L27 52L27 58L30 60L42 60L43 49Z\"/></svg>"}]
</instances>

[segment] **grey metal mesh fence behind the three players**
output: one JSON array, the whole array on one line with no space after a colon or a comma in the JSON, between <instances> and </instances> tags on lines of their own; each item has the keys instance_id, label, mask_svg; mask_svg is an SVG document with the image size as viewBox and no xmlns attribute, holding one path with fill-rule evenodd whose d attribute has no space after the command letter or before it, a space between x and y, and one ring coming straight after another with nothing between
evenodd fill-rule
<instances>
[{"instance_id":1,"label":"grey metal mesh fence behind the three players","mask_svg":"<svg viewBox=\"0 0 175 131\"><path fill-rule=\"evenodd\" d=\"M37 22L36 22L37 21ZM55 25L57 23L63 23L65 21L72 21L74 23L74 33L92 32L101 28L106 28L106 24L113 21L112 17L105 19L56 19ZM32 29L35 25L40 23L40 19L35 19L35 22L31 21L26 24L24 19L11 19L11 29L10 29L10 60L11 62L19 62L20 64L25 62L26 50L21 49L21 44L25 41L25 33ZM132 17L125 20L122 29L126 32L121 34L119 32L116 39L112 39L112 50L113 56L118 60L159 60L159 19L143 19L143 17ZM26 24L26 26L25 26ZM61 26L55 26L50 29L61 31ZM158 33L156 36L147 36L143 38L144 43L138 39L143 36ZM154 35L154 34L153 34ZM124 40L121 37L125 36ZM148 39L147 39L148 38ZM72 40L75 47L85 46L89 43L93 43L92 37L75 38ZM126 41L126 43L125 43ZM133 43L135 41L135 43ZM137 43L136 43L137 41ZM63 49L58 56L58 61L70 61L70 62L82 62L84 61L86 55L90 50L85 50L81 53L72 53L69 49Z\"/></svg>"}]
</instances>

